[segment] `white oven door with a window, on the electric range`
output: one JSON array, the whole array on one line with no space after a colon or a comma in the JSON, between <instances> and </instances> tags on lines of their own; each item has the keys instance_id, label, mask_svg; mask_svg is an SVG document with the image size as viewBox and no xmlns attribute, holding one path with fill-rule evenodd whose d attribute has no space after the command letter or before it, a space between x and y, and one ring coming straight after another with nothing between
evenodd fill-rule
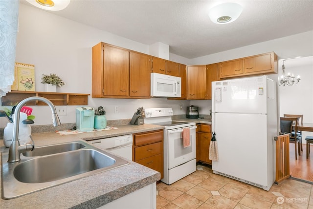
<instances>
[{"instance_id":1,"label":"white oven door with a window, on the electric range","mask_svg":"<svg viewBox=\"0 0 313 209\"><path fill-rule=\"evenodd\" d=\"M190 128L190 146L183 147L181 132L183 128L167 130L168 169L196 158L196 126Z\"/></svg>"}]
</instances>

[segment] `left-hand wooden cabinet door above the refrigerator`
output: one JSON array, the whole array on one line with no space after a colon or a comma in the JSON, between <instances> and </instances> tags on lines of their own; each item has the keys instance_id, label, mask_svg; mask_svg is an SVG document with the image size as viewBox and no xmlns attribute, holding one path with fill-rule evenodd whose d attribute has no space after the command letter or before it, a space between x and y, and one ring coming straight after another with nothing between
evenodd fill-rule
<instances>
[{"instance_id":1,"label":"left-hand wooden cabinet door above the refrigerator","mask_svg":"<svg viewBox=\"0 0 313 209\"><path fill-rule=\"evenodd\" d=\"M221 63L221 78L243 74L243 60L234 60Z\"/></svg>"}]
</instances>

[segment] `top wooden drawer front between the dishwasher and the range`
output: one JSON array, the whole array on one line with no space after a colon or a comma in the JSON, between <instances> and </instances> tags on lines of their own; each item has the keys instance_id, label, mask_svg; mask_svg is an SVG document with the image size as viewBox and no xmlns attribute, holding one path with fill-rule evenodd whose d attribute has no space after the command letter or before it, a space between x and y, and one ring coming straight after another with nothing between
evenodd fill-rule
<instances>
[{"instance_id":1,"label":"top wooden drawer front between the dishwasher and the range","mask_svg":"<svg viewBox=\"0 0 313 209\"><path fill-rule=\"evenodd\" d=\"M147 132L143 134L134 134L134 145L144 145L163 140L163 129L156 132Z\"/></svg>"}]
</instances>

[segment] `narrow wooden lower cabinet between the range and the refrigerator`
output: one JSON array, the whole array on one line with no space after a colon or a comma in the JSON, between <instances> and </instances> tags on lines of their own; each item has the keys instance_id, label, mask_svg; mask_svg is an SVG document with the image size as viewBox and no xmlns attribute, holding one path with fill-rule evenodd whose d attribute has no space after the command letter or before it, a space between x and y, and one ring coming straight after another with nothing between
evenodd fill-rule
<instances>
[{"instance_id":1,"label":"narrow wooden lower cabinet between the range and the refrigerator","mask_svg":"<svg viewBox=\"0 0 313 209\"><path fill-rule=\"evenodd\" d=\"M209 148L212 138L211 125L197 124L196 134L197 162L212 164L212 161L209 160Z\"/></svg>"}]
</instances>

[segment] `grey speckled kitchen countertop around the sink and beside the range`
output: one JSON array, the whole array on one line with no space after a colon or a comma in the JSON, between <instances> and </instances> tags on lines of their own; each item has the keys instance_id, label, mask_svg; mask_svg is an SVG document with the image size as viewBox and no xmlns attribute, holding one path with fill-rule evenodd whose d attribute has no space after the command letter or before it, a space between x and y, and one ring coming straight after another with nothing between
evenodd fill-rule
<instances>
[{"instance_id":1,"label":"grey speckled kitchen countertop around the sink and beside the range","mask_svg":"<svg viewBox=\"0 0 313 209\"><path fill-rule=\"evenodd\" d=\"M210 119L173 118L176 121L207 123ZM75 140L104 139L146 131L163 129L163 126L153 124L121 125L117 129L87 132L81 134L59 135L55 132L35 133L32 138L36 146L70 142ZM0 140L2 155L8 154L8 148ZM41 191L30 193L15 199L0 199L0 208L98 208L113 200L123 197L160 180L160 173L138 163L104 171L86 178L78 179L59 186L53 186Z\"/></svg>"}]
</instances>

